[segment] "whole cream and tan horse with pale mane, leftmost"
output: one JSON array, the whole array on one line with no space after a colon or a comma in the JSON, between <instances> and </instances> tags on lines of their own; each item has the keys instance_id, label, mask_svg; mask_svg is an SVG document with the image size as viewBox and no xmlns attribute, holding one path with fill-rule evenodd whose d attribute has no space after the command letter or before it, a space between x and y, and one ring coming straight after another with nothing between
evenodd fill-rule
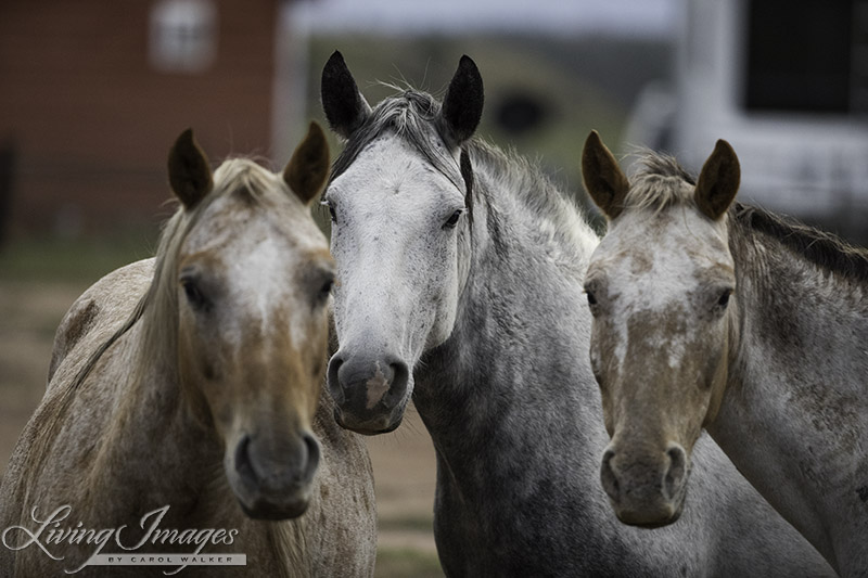
<instances>
[{"instance_id":1,"label":"whole cream and tan horse with pale mane, leftmost","mask_svg":"<svg viewBox=\"0 0 868 578\"><path fill-rule=\"evenodd\" d=\"M309 204L328 164L317 125L282 175L212 175L178 139L181 208L155 260L98 282L58 331L0 489L0 576L372 575L370 461L321 393L334 266ZM178 563L194 552L246 565ZM108 553L176 557L91 557Z\"/></svg>"}]
</instances>

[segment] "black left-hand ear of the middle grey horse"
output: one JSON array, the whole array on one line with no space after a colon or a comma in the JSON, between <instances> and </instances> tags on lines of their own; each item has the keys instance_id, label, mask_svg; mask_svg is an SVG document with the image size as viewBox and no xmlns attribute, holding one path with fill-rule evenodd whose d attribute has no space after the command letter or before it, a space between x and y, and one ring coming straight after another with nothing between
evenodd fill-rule
<instances>
[{"instance_id":1,"label":"black left-hand ear of the middle grey horse","mask_svg":"<svg viewBox=\"0 0 868 578\"><path fill-rule=\"evenodd\" d=\"M345 139L371 114L371 107L359 92L344 56L336 50L322 68L320 98L329 126Z\"/></svg>"}]
</instances>

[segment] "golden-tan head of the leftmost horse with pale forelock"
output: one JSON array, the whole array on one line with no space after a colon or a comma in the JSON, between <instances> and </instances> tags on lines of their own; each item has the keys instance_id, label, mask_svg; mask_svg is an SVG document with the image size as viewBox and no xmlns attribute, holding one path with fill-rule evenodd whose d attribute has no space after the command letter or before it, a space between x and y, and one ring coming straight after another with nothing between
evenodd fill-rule
<instances>
[{"instance_id":1,"label":"golden-tan head of the leftmost horse with pale forelock","mask_svg":"<svg viewBox=\"0 0 868 578\"><path fill-rule=\"evenodd\" d=\"M188 407L217 432L226 479L252 517L302 514L319 464L311 421L334 271L309 205L328 154L317 125L280 175L243 158L212 174L189 130L169 153L181 224L161 252L170 257L156 300L177 309Z\"/></svg>"}]
</instances>

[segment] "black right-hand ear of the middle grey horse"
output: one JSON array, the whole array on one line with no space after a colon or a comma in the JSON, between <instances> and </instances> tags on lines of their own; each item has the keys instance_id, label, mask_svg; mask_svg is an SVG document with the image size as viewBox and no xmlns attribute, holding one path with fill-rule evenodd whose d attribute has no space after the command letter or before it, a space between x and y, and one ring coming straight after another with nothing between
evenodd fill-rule
<instances>
[{"instance_id":1,"label":"black right-hand ear of the middle grey horse","mask_svg":"<svg viewBox=\"0 0 868 578\"><path fill-rule=\"evenodd\" d=\"M449 144L458 146L473 136L482 118L484 102L480 69L470 56L461 56L441 112L446 137L452 141Z\"/></svg>"}]
</instances>

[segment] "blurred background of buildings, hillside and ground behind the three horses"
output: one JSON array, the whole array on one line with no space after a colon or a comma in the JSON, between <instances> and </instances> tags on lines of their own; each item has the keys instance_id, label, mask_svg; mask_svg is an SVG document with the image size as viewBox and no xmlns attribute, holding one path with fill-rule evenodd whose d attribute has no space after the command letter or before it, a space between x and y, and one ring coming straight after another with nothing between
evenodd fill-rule
<instances>
[{"instance_id":1,"label":"blurred background of buildings, hillside and ground behind the three horses","mask_svg":"<svg viewBox=\"0 0 868 578\"><path fill-rule=\"evenodd\" d=\"M307 123L324 124L334 50L372 104L392 93L383 82L442 95L472 56L477 133L538 159L579 203L591 128L625 168L649 145L698 170L725 138L742 200L868 243L866 0L2 0L0 468L65 310L152 254L175 138L192 127L215 164L282 166ZM441 576L423 426L411 415L369 447L378 575Z\"/></svg>"}]
</instances>

